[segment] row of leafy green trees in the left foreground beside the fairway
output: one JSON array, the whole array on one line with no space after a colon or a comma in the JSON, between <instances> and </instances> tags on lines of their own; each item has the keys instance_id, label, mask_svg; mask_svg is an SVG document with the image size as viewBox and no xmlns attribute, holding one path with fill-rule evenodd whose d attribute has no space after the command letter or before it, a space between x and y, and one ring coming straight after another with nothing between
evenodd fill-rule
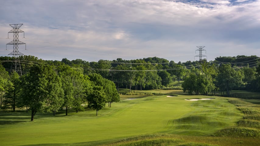
<instances>
[{"instance_id":1,"label":"row of leafy green trees in the left foreground beside the fairway","mask_svg":"<svg viewBox=\"0 0 260 146\"><path fill-rule=\"evenodd\" d=\"M82 104L97 112L105 103L120 101L114 82L97 73L84 75L83 70L67 65L33 64L19 77L9 73L0 64L1 109L24 108L31 110L31 121L38 111L55 112L68 108L78 112ZM97 115L97 114L96 114Z\"/></svg>"}]
</instances>

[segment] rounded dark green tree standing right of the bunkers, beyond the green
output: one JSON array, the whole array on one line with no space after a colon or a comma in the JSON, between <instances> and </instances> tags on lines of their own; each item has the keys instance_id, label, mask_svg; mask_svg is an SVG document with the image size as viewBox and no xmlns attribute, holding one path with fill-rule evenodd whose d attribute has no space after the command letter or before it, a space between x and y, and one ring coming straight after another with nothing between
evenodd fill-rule
<instances>
[{"instance_id":1,"label":"rounded dark green tree standing right of the bunkers, beyond the green","mask_svg":"<svg viewBox=\"0 0 260 146\"><path fill-rule=\"evenodd\" d=\"M229 95L230 90L241 84L243 77L240 71L235 71L229 64L222 64L216 77L217 85Z\"/></svg>"}]
</instances>

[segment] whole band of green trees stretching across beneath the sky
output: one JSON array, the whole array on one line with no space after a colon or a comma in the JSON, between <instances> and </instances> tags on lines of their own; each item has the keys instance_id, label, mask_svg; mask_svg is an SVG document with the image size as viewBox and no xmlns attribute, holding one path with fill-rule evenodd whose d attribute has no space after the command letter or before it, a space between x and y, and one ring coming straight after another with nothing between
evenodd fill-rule
<instances>
[{"instance_id":1,"label":"whole band of green trees stretching across beneath the sky","mask_svg":"<svg viewBox=\"0 0 260 146\"><path fill-rule=\"evenodd\" d=\"M26 107L55 114L60 108L78 110L83 103L98 110L120 100L118 89L181 89L187 94L208 95L232 90L260 91L259 57L217 57L214 61L168 61L158 57L135 60L88 62L61 61L21 56L20 77L10 70L11 57L0 57L1 108ZM174 82L182 82L174 86ZM66 112L67 115L67 112Z\"/></svg>"}]
</instances>

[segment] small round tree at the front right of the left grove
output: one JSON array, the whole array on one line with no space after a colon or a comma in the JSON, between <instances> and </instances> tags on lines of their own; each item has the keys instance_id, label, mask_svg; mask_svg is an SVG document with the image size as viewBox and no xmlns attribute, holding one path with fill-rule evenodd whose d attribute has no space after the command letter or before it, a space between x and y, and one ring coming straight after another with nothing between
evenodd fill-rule
<instances>
[{"instance_id":1,"label":"small round tree at the front right of the left grove","mask_svg":"<svg viewBox=\"0 0 260 146\"><path fill-rule=\"evenodd\" d=\"M106 104L106 96L101 86L94 86L93 92L87 97L88 106L96 111L103 109ZM97 114L96 114L97 116Z\"/></svg>"}]
</instances>

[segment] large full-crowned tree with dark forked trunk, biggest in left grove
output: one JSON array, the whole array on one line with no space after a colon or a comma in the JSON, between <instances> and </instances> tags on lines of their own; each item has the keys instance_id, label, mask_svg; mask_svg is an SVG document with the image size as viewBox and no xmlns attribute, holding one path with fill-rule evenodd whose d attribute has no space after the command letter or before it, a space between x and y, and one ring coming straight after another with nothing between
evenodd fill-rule
<instances>
[{"instance_id":1,"label":"large full-crowned tree with dark forked trunk, biggest in left grove","mask_svg":"<svg viewBox=\"0 0 260 146\"><path fill-rule=\"evenodd\" d=\"M22 76L21 97L24 103L27 103L31 113L31 121L38 111L51 108L56 99L61 98L63 90L58 89L61 86L59 77L49 65L35 65L30 68L29 73ZM57 102L59 103L59 102Z\"/></svg>"}]
</instances>

